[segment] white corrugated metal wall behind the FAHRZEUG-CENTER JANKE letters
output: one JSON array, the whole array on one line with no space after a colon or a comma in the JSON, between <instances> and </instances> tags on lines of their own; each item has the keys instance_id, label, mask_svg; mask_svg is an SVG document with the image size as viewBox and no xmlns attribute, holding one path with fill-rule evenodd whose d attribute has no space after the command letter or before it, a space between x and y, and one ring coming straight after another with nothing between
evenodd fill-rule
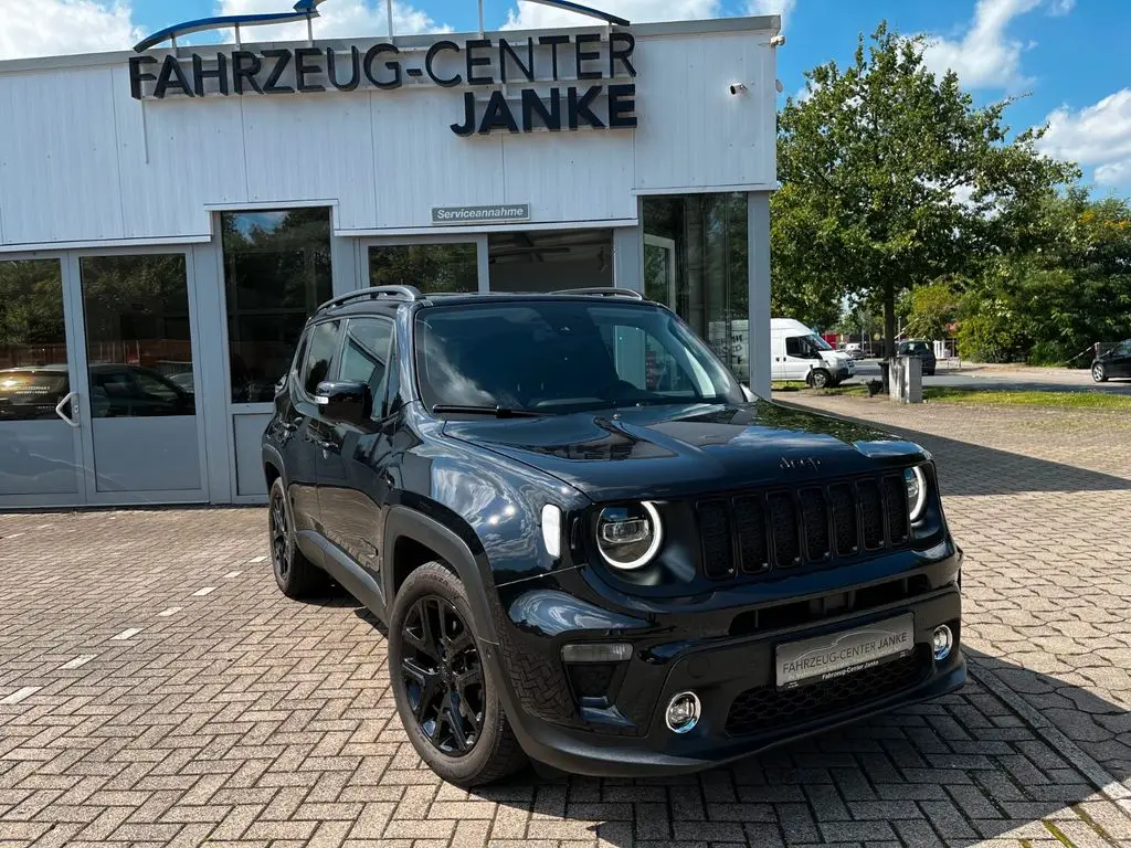
<instances>
[{"instance_id":1,"label":"white corrugated metal wall behind the FAHRZEUG-CENTER JANKE letters","mask_svg":"<svg viewBox=\"0 0 1131 848\"><path fill-rule=\"evenodd\" d=\"M222 204L326 200L348 234L429 227L432 206L529 202L535 223L623 222L638 190L770 188L769 35L638 37L637 130L470 138L449 129L463 88L141 103L123 54L0 67L0 250L202 239ZM731 81L749 92L732 96Z\"/></svg>"}]
</instances>

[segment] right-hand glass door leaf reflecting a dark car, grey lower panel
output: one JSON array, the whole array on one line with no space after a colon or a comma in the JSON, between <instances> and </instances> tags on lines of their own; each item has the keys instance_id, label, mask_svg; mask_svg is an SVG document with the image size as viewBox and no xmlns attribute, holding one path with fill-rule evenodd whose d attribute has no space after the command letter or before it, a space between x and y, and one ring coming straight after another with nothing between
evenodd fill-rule
<instances>
[{"instance_id":1,"label":"right-hand glass door leaf reflecting a dark car, grey lower panel","mask_svg":"<svg viewBox=\"0 0 1131 848\"><path fill-rule=\"evenodd\" d=\"M190 261L184 252L72 259L88 502L207 500Z\"/></svg>"}]
</instances>

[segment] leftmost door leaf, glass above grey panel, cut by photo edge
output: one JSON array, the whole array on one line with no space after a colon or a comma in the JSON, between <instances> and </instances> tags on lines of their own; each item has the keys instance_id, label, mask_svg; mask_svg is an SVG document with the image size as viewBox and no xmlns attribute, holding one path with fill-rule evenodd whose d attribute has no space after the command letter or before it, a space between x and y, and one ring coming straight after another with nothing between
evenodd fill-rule
<instances>
[{"instance_id":1,"label":"leftmost door leaf, glass above grey panel, cut by photo edge","mask_svg":"<svg viewBox=\"0 0 1131 848\"><path fill-rule=\"evenodd\" d=\"M85 500L67 326L62 261L0 258L0 507Z\"/></svg>"}]
</instances>

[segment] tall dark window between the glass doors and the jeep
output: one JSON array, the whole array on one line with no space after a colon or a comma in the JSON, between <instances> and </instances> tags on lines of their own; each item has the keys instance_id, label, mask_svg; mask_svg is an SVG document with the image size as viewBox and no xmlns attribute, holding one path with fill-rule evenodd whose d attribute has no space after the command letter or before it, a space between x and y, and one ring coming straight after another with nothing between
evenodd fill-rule
<instances>
[{"instance_id":1,"label":"tall dark window between the glass doors and the jeep","mask_svg":"<svg viewBox=\"0 0 1131 848\"><path fill-rule=\"evenodd\" d=\"M330 210L224 213L232 403L270 401L307 319L333 296Z\"/></svg>"}]
</instances>

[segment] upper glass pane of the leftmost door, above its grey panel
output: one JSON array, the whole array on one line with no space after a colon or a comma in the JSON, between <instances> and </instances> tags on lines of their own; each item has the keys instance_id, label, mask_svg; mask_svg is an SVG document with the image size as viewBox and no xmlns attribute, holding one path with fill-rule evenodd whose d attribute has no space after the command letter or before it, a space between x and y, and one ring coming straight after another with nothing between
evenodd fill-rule
<instances>
[{"instance_id":1,"label":"upper glass pane of the leftmost door, above its grey panel","mask_svg":"<svg viewBox=\"0 0 1131 848\"><path fill-rule=\"evenodd\" d=\"M0 261L0 421L55 419L69 391L59 260Z\"/></svg>"}]
</instances>

